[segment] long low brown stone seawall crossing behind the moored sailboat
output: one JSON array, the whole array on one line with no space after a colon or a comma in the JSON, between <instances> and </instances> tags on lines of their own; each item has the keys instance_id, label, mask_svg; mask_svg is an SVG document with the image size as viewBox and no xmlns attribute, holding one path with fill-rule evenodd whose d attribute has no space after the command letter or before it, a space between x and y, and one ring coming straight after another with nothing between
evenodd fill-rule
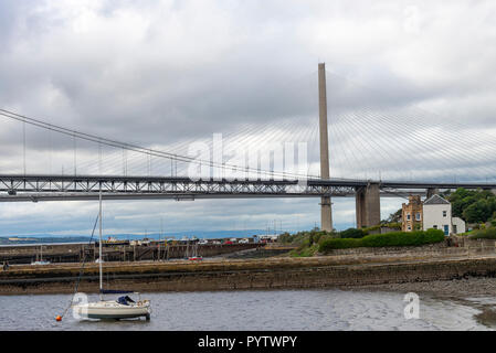
<instances>
[{"instance_id":1,"label":"long low brown stone seawall crossing behind the moored sailboat","mask_svg":"<svg viewBox=\"0 0 496 353\"><path fill-rule=\"evenodd\" d=\"M380 261L379 261L380 260ZM200 291L239 289L325 288L403 284L466 277L494 277L496 257L403 257L400 260L336 257L284 258L187 263L105 264L108 289L137 291ZM80 272L77 266L19 268L0 272L0 295L71 293ZM84 271L80 291L96 292L98 269Z\"/></svg>"}]
</instances>

